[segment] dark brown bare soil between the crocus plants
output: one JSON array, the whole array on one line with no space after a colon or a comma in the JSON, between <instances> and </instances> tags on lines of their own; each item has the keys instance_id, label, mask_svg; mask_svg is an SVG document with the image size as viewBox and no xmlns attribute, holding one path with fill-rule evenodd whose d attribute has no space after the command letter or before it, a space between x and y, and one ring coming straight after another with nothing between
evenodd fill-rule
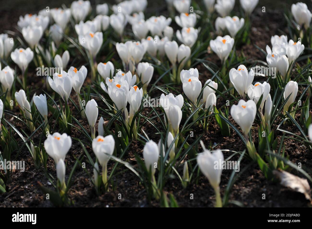
<instances>
[{"instance_id":1,"label":"dark brown bare soil between the crocus plants","mask_svg":"<svg viewBox=\"0 0 312 229\"><path fill-rule=\"evenodd\" d=\"M37 1L36 1L37 2ZM68 2L71 1L61 1L69 6ZM276 1L279 2L279 1ZM27 2L28 3L28 2ZM93 4L94 1L91 1ZM53 6L52 6L53 4ZM153 3L151 3L153 5ZM28 3L27 5L31 5ZM34 4L36 5L36 4ZM54 1L51 3L51 7L60 6L60 1ZM94 5L93 5L94 6ZM24 15L25 13L36 13L41 8L44 8L45 4L42 3L39 6L22 8L19 7L16 12L12 12L10 8L4 8L4 13L2 14L2 20L0 22L1 32L6 29L13 28L16 25L19 15ZM289 7L288 7L289 8ZM149 8L151 9L151 8ZM153 9L153 8L152 8ZM163 9L163 8L162 8ZM153 9L154 10L154 9ZM237 9L238 10L238 9ZM287 32L287 27L285 24L285 19L283 16L283 10L281 8L276 8L275 10L267 7L266 14L261 12L261 7L258 7L256 12L252 15L252 28L250 32L251 43L247 45L242 45L238 48L239 51L244 52L247 60L264 60L265 56L254 47L254 45L259 46L265 50L265 46L270 44L270 38L272 35L280 35L280 30ZM103 59L103 56L99 56L99 60ZM214 54L208 54L206 60L209 60L213 63L216 63L219 67L221 65L217 56ZM199 72L201 73L200 79L204 83L207 79L210 79L212 75L208 73L207 69L201 64L196 66ZM29 73L30 76L34 73ZM157 79L159 76L155 76ZM90 78L90 76L88 76ZM32 93L40 94L42 90L46 91L45 82L39 78L29 77ZM90 79L86 80L85 85L90 83ZM159 85L162 84L159 82ZM180 88L180 92L183 90ZM101 92L102 94L104 92ZM161 93L153 91L153 96L157 97ZM76 96L72 93L71 98L76 102ZM97 101L99 107L104 107L105 104L101 101ZM218 101L222 105L224 101ZM70 103L71 104L71 103ZM310 105L311 106L311 105ZM71 105L73 109L74 116L77 114L75 107ZM13 112L18 113L17 108L13 109ZM151 112L147 108L144 110L144 115L148 115ZM99 111L100 115L103 115L103 112ZM49 112L51 117L51 112ZM153 116L153 114L152 114ZM50 118L49 117L49 118ZM11 116L5 114L5 118L14 123L15 119L11 119ZM299 115L297 114L296 119L298 120ZM86 120L82 120L80 116L77 116L78 121L83 125L87 130L89 130L88 123ZM181 124L185 121L182 120ZM230 118L232 123L235 123L232 118ZM279 122L277 122L278 125ZM56 125L55 130L58 129L58 124L52 124L51 126ZM80 128L75 122L73 122L77 128ZM23 126L21 122L16 122L16 127L19 131L24 130L28 135L31 133L26 126ZM285 130L294 132L300 135L298 129L295 126L285 125ZM146 124L143 127L143 130L147 133L150 139L158 142L159 135L156 134L155 128ZM235 131L231 128L231 137L223 137L217 123L214 119L209 125L208 131L203 131L202 128L194 129L194 137L189 138L188 143L191 144L196 136L203 134L202 141L205 146L208 147L210 143L216 145L216 149L229 149L235 151L242 151L245 149L242 141L237 136ZM275 126L276 130L276 126ZM258 146L258 130L255 125L252 129L253 139L255 141L256 147ZM141 133L143 134L143 132ZM38 131L35 136L33 136L33 141L35 145L39 144L41 132ZM275 131L275 137L282 135L281 132ZM17 139L19 145L22 145L22 140L14 135ZM72 128L71 132L72 138L79 138L81 141L88 142L89 140L81 134L80 131L77 131L75 128ZM90 142L89 142L90 144ZM299 145L297 141L291 139L285 139L283 143L285 148L285 156L289 156L289 160L295 164L301 162L307 168L312 168L312 155L309 148L305 145ZM86 147L91 157L95 160L95 156L90 147ZM133 141L130 144L129 150L124 156L123 160L129 162L133 166L137 166L136 161L134 160L135 154L142 157L143 145L139 141ZM198 147L199 152L202 150L201 146ZM15 157L17 152L12 153L12 158ZM224 158L227 158L231 155L231 152L224 152ZM76 159L80 155L83 162L86 162L86 169L89 174L93 174L93 169L90 164L87 163L87 158L84 154L82 147L78 141L73 140L72 147L66 156L66 180L68 180L71 169L73 168ZM13 172L11 181L7 184L7 193L0 194L0 207L53 207L52 203L49 200L46 200L45 194L41 191L38 181L48 188L52 188L52 185L49 185L48 179L45 177L41 169L35 169L31 155L26 147L24 147L19 153L18 160L24 160L26 163L25 172ZM235 155L232 160L238 160L238 156ZM250 161L244 158L241 161L241 170L247 166ZM108 164L108 174L110 174L111 169L114 167L115 162L110 160ZM49 157L47 162L48 172L53 176L56 176L55 164L54 161ZM178 172L181 174L183 166L180 166ZM229 177L232 173L232 170L223 170L221 177L221 196L224 195L225 189ZM293 174L299 175L296 171L292 171ZM311 175L311 174L310 174ZM157 177L157 174L156 174ZM74 207L159 207L160 204L156 200L152 200L151 203L147 200L147 193L144 189L143 184L140 183L139 178L132 173L129 169L120 165L117 167L114 176L111 179L110 192L98 196L93 188L93 184L90 180L90 177L87 175L85 170L80 166L76 169L74 174L74 184L69 191L69 198L74 202ZM208 180L200 173L197 183L191 183L187 188L182 188L182 185L177 177L172 177L167 180L167 183L164 188L165 193L172 193L176 198L178 205L180 207L213 207L215 203L214 191L209 184ZM119 193L122 198L118 199ZM266 194L266 199L262 199L262 194ZM191 194L194 198L190 199ZM235 184L231 189L229 196L229 206L236 207L234 201L238 201L242 206L245 207L308 207L309 201L305 199L305 196L301 193L294 192L289 188L284 188L278 183L273 183L268 181L257 164L252 164L248 169L241 174L241 176L236 180Z\"/></svg>"}]
</instances>

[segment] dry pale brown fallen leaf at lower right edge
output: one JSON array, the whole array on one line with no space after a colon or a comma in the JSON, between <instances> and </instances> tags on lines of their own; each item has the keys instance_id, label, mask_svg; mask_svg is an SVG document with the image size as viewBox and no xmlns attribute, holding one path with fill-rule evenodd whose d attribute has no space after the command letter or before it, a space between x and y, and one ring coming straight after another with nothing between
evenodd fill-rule
<instances>
[{"instance_id":1,"label":"dry pale brown fallen leaf at lower right edge","mask_svg":"<svg viewBox=\"0 0 312 229\"><path fill-rule=\"evenodd\" d=\"M308 183L307 179L300 178L298 176L295 176L291 173L288 173L283 170L274 170L273 174L280 179L280 184L289 187L296 192L303 193L305 195L305 198L310 200L312 203L311 199L311 188Z\"/></svg>"}]
</instances>

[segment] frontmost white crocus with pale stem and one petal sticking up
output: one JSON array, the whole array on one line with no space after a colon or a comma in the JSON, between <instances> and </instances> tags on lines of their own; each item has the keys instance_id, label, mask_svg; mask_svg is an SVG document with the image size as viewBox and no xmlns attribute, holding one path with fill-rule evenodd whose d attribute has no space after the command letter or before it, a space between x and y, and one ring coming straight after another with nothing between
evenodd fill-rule
<instances>
[{"instance_id":1,"label":"frontmost white crocus with pale stem and one petal sticking up","mask_svg":"<svg viewBox=\"0 0 312 229\"><path fill-rule=\"evenodd\" d=\"M216 150L211 152L203 147L203 152L197 155L196 160L200 171L202 171L202 173L207 177L209 183L216 193L215 206L221 208L222 200L219 185L221 181L222 167L220 165L216 165L218 165L218 163L222 163L224 160L222 151Z\"/></svg>"}]
</instances>

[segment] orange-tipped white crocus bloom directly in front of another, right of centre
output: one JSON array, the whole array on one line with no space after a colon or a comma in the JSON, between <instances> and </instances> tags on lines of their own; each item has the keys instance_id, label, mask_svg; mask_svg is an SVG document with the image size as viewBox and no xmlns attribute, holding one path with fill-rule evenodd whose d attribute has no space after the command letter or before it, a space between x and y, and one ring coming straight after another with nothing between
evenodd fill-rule
<instances>
[{"instance_id":1,"label":"orange-tipped white crocus bloom directly in front of another, right of centre","mask_svg":"<svg viewBox=\"0 0 312 229\"><path fill-rule=\"evenodd\" d=\"M183 81L183 92L196 106L197 98L202 90L202 83L197 77L190 77Z\"/></svg>"}]
</instances>

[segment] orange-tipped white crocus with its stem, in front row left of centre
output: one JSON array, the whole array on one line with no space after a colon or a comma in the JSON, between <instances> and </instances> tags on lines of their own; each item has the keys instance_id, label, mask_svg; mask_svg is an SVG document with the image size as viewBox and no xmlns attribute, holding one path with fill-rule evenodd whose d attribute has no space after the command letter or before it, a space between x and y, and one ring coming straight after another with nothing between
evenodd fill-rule
<instances>
[{"instance_id":1,"label":"orange-tipped white crocus with its stem, in front row left of centre","mask_svg":"<svg viewBox=\"0 0 312 229\"><path fill-rule=\"evenodd\" d=\"M106 137L97 136L92 141L92 149L97 160L99 160L99 163L102 166L102 181L105 185L105 189L107 190L107 163L110 160L109 155L112 155L115 149L114 137L112 135L108 135Z\"/></svg>"}]
</instances>

